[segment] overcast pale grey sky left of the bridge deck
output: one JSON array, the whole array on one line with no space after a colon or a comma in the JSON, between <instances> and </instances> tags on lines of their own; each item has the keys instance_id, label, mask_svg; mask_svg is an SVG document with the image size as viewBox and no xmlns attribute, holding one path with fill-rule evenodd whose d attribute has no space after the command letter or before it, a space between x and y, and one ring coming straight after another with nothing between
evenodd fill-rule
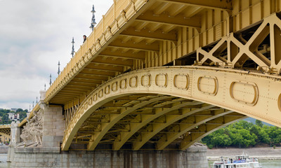
<instances>
[{"instance_id":1,"label":"overcast pale grey sky left of the bridge deck","mask_svg":"<svg viewBox=\"0 0 281 168\"><path fill-rule=\"evenodd\" d=\"M113 0L0 0L0 108L29 109L74 49L89 36L91 9L98 23Z\"/></svg>"}]
</instances>

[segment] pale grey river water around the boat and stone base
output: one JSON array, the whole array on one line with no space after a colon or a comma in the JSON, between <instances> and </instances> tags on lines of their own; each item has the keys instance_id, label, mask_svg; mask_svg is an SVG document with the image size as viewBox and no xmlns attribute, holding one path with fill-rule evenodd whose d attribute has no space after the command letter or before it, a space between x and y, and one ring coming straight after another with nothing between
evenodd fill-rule
<instances>
[{"instance_id":1,"label":"pale grey river water around the boat and stone base","mask_svg":"<svg viewBox=\"0 0 281 168\"><path fill-rule=\"evenodd\" d=\"M7 154L6 153L0 153L0 168L10 168L11 163L6 162L7 160ZM259 160L261 162L261 165L263 165L263 168L280 168L281 167L281 160ZM209 162L209 165L211 165L213 161Z\"/></svg>"}]
</instances>

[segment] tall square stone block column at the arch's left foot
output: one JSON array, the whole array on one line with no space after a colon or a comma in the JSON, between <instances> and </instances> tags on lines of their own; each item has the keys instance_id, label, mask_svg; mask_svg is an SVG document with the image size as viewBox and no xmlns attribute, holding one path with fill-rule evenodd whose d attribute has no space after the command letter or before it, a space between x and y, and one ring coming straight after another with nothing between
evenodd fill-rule
<instances>
[{"instance_id":1,"label":"tall square stone block column at the arch's left foot","mask_svg":"<svg viewBox=\"0 0 281 168\"><path fill-rule=\"evenodd\" d=\"M63 107L45 104L45 95L46 91L41 90L41 101L39 102L39 106L44 110L42 143L44 147L59 148L60 142L63 140L63 134L65 130Z\"/></svg>"}]
</instances>

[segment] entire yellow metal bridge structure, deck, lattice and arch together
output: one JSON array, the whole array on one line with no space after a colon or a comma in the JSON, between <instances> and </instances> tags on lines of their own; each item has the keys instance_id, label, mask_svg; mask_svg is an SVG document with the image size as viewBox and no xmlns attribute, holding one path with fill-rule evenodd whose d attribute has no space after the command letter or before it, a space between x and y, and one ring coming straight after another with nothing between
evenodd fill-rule
<instances>
[{"instance_id":1,"label":"entire yellow metal bridge structure, deck, lattice and arch together","mask_svg":"<svg viewBox=\"0 0 281 168\"><path fill-rule=\"evenodd\" d=\"M245 116L280 127L280 7L114 1L46 92L64 105L63 150L185 149Z\"/></svg>"}]
</instances>

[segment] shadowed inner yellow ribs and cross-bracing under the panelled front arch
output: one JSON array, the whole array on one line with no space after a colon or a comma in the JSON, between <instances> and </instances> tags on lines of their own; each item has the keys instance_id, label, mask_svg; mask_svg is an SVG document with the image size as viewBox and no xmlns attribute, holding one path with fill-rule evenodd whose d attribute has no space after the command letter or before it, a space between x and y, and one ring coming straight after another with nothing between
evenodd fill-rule
<instances>
[{"instance_id":1,"label":"shadowed inner yellow ribs and cross-bracing under the panelled front arch","mask_svg":"<svg viewBox=\"0 0 281 168\"><path fill-rule=\"evenodd\" d=\"M72 144L87 144L87 150L162 150L172 144L180 144L179 148L185 149L210 132L241 118L244 115L240 113L202 102L166 95L134 94L100 106L81 125Z\"/></svg>"}]
</instances>

